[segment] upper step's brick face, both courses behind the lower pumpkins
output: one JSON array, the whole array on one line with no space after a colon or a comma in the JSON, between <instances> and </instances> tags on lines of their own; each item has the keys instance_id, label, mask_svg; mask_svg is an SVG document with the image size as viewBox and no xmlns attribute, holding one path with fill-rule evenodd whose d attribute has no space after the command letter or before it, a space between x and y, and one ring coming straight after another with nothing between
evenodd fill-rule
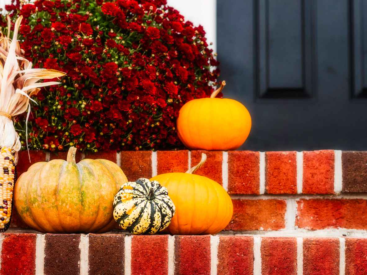
<instances>
[{"instance_id":1,"label":"upper step's brick face, both courses behind the lower pumpkins","mask_svg":"<svg viewBox=\"0 0 367 275\"><path fill-rule=\"evenodd\" d=\"M115 161L129 180L186 171L205 151L129 151L79 154L77 159ZM363 234L367 229L367 152L205 152L197 171L220 183L233 200L232 233L296 234L327 230L334 235ZM30 152L32 162L66 158L65 153ZM19 173L30 166L20 152ZM23 227L15 216L12 227ZM335 233L337 229L337 233Z\"/></svg>"}]
</instances>

